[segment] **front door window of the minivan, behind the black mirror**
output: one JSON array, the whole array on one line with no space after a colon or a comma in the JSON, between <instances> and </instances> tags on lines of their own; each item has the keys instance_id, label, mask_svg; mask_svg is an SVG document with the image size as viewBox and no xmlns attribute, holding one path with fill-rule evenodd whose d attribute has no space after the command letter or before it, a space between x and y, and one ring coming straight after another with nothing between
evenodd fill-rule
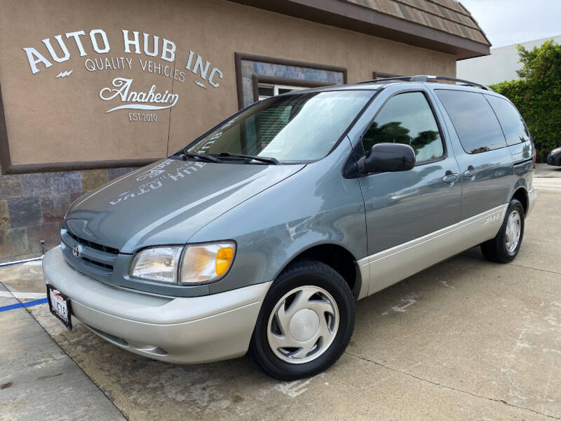
<instances>
[{"instance_id":1,"label":"front door window of the minivan, behind the black mirror","mask_svg":"<svg viewBox=\"0 0 561 421\"><path fill-rule=\"evenodd\" d=\"M410 145L417 162L444 155L433 110L423 93L400 93L386 102L363 135L366 154L382 142Z\"/></svg>"}]
</instances>

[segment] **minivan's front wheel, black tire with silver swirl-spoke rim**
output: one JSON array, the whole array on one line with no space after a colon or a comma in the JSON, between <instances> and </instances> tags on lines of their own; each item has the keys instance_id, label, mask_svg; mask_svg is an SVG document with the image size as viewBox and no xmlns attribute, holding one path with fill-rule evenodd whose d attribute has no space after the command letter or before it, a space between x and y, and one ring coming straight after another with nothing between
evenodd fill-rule
<instances>
[{"instance_id":1,"label":"minivan's front wheel, black tire with silver swirl-spoke rim","mask_svg":"<svg viewBox=\"0 0 561 421\"><path fill-rule=\"evenodd\" d=\"M354 322L355 300L343 277L325 263L297 260L269 288L249 354L266 375L277 380L310 377L339 359L349 345ZM306 353L316 337L316 345ZM276 346L288 342L304 346Z\"/></svg>"}]
</instances>

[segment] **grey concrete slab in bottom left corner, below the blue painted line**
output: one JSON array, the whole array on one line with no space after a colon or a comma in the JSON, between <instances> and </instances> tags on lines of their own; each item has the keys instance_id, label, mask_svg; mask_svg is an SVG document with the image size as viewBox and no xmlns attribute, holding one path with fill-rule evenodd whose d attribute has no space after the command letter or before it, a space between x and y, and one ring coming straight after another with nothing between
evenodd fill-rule
<instances>
[{"instance_id":1,"label":"grey concrete slab in bottom left corner, below the blue painted line","mask_svg":"<svg viewBox=\"0 0 561 421\"><path fill-rule=\"evenodd\" d=\"M26 309L0 312L0 323L0 420L124 419Z\"/></svg>"}]
</instances>

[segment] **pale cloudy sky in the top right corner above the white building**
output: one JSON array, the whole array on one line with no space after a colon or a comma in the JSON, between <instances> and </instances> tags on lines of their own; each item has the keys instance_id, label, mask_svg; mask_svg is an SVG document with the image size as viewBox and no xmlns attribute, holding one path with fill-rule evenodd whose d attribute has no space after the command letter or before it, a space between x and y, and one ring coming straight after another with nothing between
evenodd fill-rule
<instances>
[{"instance_id":1,"label":"pale cloudy sky in the top right corner above the white building","mask_svg":"<svg viewBox=\"0 0 561 421\"><path fill-rule=\"evenodd\" d=\"M460 0L493 47L561 35L561 0Z\"/></svg>"}]
</instances>

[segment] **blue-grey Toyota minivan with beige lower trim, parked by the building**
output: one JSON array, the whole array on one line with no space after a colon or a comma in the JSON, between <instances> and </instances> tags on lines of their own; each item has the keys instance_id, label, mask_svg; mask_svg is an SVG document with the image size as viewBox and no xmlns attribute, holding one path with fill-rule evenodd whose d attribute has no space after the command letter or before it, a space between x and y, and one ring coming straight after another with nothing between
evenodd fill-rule
<instances>
[{"instance_id":1,"label":"blue-grey Toyota minivan with beige lower trim, parked by the building","mask_svg":"<svg viewBox=\"0 0 561 421\"><path fill-rule=\"evenodd\" d=\"M477 245L511 262L532 138L503 96L438 79L262 100L81 196L43 259L51 312L152 359L249 352L291 380L337 361L356 300Z\"/></svg>"}]
</instances>

